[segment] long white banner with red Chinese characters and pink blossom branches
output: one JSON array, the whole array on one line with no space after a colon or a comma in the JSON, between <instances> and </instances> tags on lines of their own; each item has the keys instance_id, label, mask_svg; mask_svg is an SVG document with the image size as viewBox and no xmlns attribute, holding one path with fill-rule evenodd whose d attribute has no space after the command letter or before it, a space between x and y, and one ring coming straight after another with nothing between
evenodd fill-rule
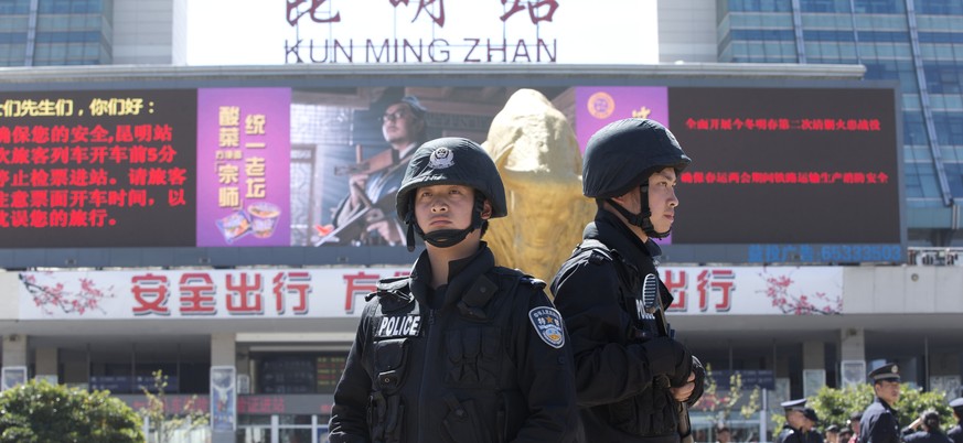
<instances>
[{"instance_id":1,"label":"long white banner with red Chinese characters and pink blossom branches","mask_svg":"<svg viewBox=\"0 0 963 443\"><path fill-rule=\"evenodd\" d=\"M23 272L21 320L322 318L361 315L378 279L407 268ZM831 315L843 309L832 267L665 267L682 315Z\"/></svg>"}]
</instances>

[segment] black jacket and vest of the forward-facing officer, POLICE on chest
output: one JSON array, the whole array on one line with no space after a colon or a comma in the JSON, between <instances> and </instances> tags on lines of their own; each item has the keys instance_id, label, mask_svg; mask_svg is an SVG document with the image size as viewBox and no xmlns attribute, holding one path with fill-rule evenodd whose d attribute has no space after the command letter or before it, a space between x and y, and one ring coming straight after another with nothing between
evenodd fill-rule
<instances>
[{"instance_id":1,"label":"black jacket and vest of the forward-facing officer, POLICE on chest","mask_svg":"<svg viewBox=\"0 0 963 443\"><path fill-rule=\"evenodd\" d=\"M484 242L428 284L410 278L367 303L334 392L339 442L575 441L571 353L544 283L495 267Z\"/></svg>"}]
</instances>

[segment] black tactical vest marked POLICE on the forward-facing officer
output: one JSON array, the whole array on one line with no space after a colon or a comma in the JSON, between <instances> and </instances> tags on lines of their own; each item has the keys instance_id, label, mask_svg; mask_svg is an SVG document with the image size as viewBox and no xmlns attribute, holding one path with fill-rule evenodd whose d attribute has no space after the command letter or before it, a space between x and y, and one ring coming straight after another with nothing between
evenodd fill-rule
<instances>
[{"instance_id":1,"label":"black tactical vest marked POLICE on the forward-facing officer","mask_svg":"<svg viewBox=\"0 0 963 443\"><path fill-rule=\"evenodd\" d=\"M378 282L377 292L368 295L378 298L378 303L370 316L364 353L372 374L367 417L372 441L514 439L529 412L507 353L513 328L527 326L513 323L517 312L511 309L512 295L544 285L520 272L494 268L480 275L454 306L431 310L411 295L409 278ZM425 402L443 404L437 409L443 412L431 412ZM416 422L418 430L405 429Z\"/></svg>"}]
</instances>

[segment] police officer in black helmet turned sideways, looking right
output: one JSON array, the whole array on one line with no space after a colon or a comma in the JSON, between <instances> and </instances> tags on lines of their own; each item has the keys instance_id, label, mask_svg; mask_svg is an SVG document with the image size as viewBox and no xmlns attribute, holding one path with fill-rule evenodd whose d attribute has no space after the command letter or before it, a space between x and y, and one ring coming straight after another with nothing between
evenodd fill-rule
<instances>
[{"instance_id":1,"label":"police officer in black helmet turned sideways, looking right","mask_svg":"<svg viewBox=\"0 0 963 443\"><path fill-rule=\"evenodd\" d=\"M592 442L691 439L678 425L686 417L680 402L698 400L705 372L680 342L642 334L638 307L645 277L657 280L661 251L651 239L668 234L677 175L689 162L672 133L648 119L610 123L586 145L582 191L598 212L552 291L571 334L580 415ZM667 307L672 295L657 287Z\"/></svg>"}]
</instances>

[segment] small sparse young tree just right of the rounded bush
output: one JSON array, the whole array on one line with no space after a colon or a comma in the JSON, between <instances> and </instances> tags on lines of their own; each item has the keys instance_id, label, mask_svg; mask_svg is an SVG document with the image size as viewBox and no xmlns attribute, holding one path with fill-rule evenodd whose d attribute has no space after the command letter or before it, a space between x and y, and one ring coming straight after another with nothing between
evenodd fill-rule
<instances>
[{"instance_id":1,"label":"small sparse young tree just right of the rounded bush","mask_svg":"<svg viewBox=\"0 0 963 443\"><path fill-rule=\"evenodd\" d=\"M153 442L167 443L173 441L174 433L178 431L190 432L207 425L207 412L194 408L197 396L184 402L182 410L178 413L169 414L167 411L168 376L162 370L156 370L151 372L151 376L153 376L153 389L140 387L140 390L147 396L147 408L141 409L140 413L150 422L150 436Z\"/></svg>"}]
</instances>

